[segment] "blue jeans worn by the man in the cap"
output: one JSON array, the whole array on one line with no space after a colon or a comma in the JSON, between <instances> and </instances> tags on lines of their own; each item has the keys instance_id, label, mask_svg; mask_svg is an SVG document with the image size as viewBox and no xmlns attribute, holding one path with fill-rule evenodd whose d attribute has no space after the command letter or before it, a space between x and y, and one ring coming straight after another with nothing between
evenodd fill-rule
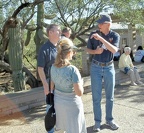
<instances>
[{"instance_id":1,"label":"blue jeans worn by the man in the cap","mask_svg":"<svg viewBox=\"0 0 144 133\"><path fill-rule=\"evenodd\" d=\"M91 64L91 89L93 99L93 111L95 123L101 123L101 99L102 99L102 79L104 79L104 88L106 94L106 121L112 121L112 110L115 87L115 69L113 63L109 66L98 66Z\"/></svg>"}]
</instances>

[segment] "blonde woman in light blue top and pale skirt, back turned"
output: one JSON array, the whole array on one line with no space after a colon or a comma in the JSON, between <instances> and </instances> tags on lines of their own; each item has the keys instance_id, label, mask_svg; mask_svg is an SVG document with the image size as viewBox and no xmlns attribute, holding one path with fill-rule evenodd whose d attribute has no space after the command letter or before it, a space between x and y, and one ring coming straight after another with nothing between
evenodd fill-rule
<instances>
[{"instance_id":1,"label":"blonde woman in light blue top and pale skirt, back turned","mask_svg":"<svg viewBox=\"0 0 144 133\"><path fill-rule=\"evenodd\" d=\"M51 67L56 129L66 133L87 133L81 100L84 92L82 78L79 70L70 63L75 49L70 39L61 39L55 63Z\"/></svg>"}]
</instances>

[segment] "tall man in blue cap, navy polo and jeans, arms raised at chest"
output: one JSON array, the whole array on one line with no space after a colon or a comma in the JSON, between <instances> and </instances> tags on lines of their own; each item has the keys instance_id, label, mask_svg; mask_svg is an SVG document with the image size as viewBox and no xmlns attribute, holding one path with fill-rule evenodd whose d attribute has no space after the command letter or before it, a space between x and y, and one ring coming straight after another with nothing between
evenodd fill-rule
<instances>
[{"instance_id":1,"label":"tall man in blue cap, navy polo and jeans, arms raised at chest","mask_svg":"<svg viewBox=\"0 0 144 133\"><path fill-rule=\"evenodd\" d=\"M99 30L90 34L87 44L87 52L93 55L90 75L95 120L94 131L100 131L102 119L102 79L104 79L106 94L106 124L113 130L119 128L114 122L112 110L115 87L113 57L114 53L118 51L120 36L110 29L111 22L109 15L101 15L97 20Z\"/></svg>"}]
</instances>

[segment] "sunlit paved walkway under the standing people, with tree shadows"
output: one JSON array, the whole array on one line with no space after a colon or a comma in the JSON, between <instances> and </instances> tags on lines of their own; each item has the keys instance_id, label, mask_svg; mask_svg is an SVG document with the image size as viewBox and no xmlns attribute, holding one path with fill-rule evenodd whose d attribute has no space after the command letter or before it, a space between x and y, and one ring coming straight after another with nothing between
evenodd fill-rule
<instances>
[{"instance_id":1,"label":"sunlit paved walkway under the standing people, with tree shadows","mask_svg":"<svg viewBox=\"0 0 144 133\"><path fill-rule=\"evenodd\" d=\"M142 79L144 82L144 78ZM88 133L93 133L91 92L82 96ZM129 83L115 88L114 118L120 125L112 131L105 125L105 95L102 99L103 121L100 133L144 133L144 85L132 87ZM0 118L0 133L46 133L45 106ZM60 133L60 132L59 132Z\"/></svg>"}]
</instances>

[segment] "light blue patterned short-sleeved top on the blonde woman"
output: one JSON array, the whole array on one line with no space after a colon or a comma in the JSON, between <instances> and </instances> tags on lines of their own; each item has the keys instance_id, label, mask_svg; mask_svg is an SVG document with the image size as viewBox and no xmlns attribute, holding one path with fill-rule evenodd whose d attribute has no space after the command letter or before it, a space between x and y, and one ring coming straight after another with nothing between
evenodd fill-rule
<instances>
[{"instance_id":1,"label":"light blue patterned short-sleeved top on the blonde woman","mask_svg":"<svg viewBox=\"0 0 144 133\"><path fill-rule=\"evenodd\" d=\"M73 84L81 82L81 75L73 65L62 68L53 65L51 67L51 80L54 82L56 90L72 93L74 91Z\"/></svg>"}]
</instances>

